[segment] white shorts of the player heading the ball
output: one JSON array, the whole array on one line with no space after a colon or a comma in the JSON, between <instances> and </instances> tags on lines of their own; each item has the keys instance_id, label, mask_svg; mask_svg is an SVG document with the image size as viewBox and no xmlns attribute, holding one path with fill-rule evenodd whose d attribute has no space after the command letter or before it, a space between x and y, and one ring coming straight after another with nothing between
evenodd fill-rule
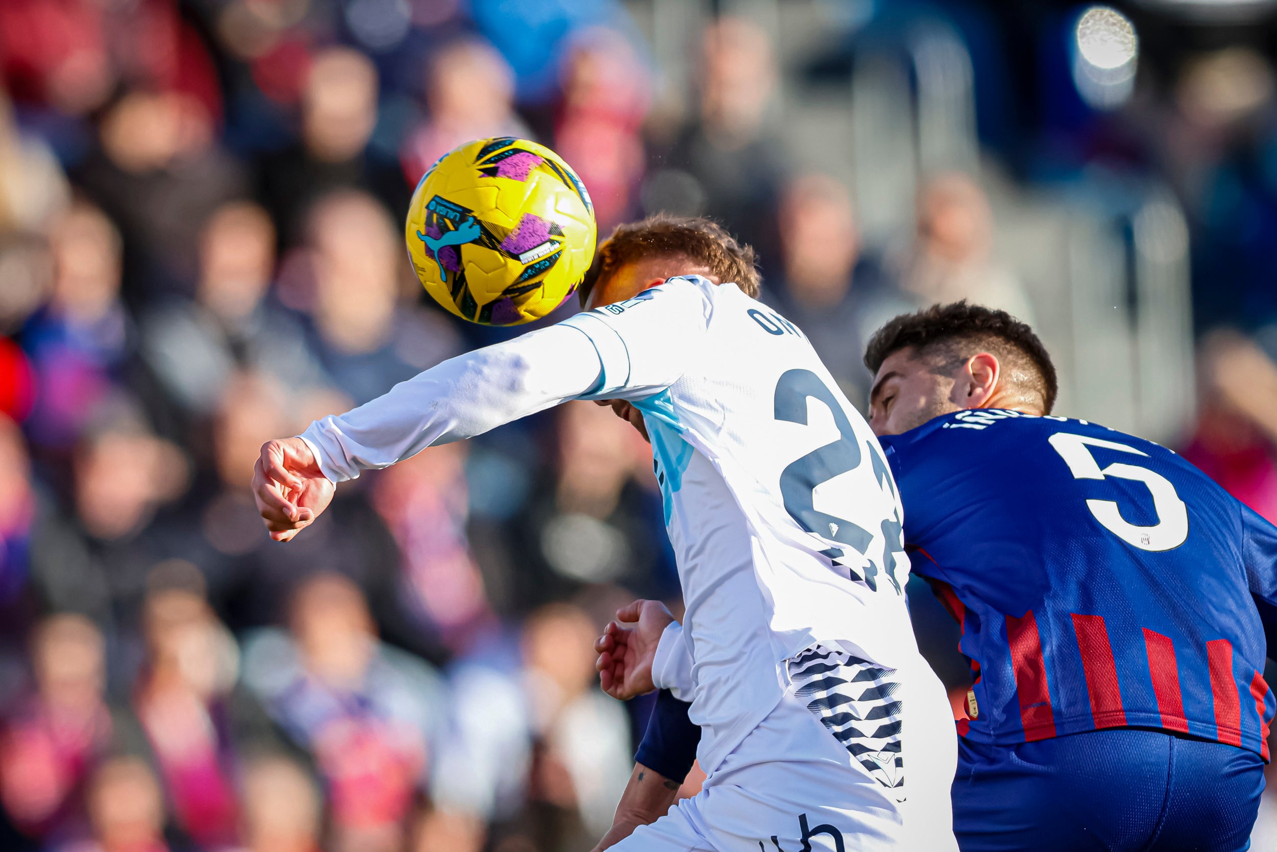
<instances>
[{"instance_id":1,"label":"white shorts of the player heading the ball","mask_svg":"<svg viewBox=\"0 0 1277 852\"><path fill-rule=\"evenodd\" d=\"M830 673L852 680L848 671L844 666ZM850 738L845 733L842 740L835 736L847 729L840 722L849 717L842 713L850 711L850 718L861 720L875 717L873 706L882 701L872 695L882 669L859 671L856 680L865 688L853 694L871 697L850 706L845 696L824 704L813 700L811 680L796 678L776 709L728 755L699 795L682 800L665 816L612 848L956 852L950 784L958 763L958 736L944 687L921 658L909 671L886 672L899 685L888 685L884 691L900 701L903 726L895 729L902 736L893 742L899 743L902 761L888 759L886 749L895 746L868 754L857 749L857 757L852 746L844 745ZM824 695L817 690L815 699ZM817 706L810 709L812 704ZM822 713L824 722L817 713ZM858 726L861 731L867 727ZM904 773L908 783L900 784Z\"/></svg>"}]
</instances>

